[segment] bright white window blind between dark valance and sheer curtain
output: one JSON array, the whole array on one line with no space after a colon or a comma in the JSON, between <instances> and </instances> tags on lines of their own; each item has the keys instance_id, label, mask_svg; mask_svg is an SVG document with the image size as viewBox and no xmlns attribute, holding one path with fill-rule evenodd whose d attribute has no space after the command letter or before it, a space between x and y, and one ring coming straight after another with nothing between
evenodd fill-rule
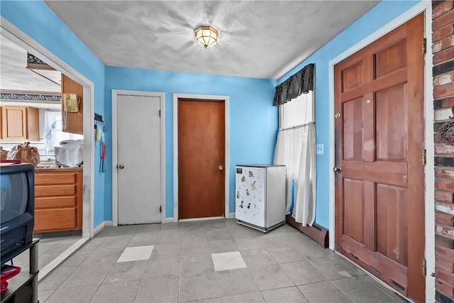
<instances>
[{"instance_id":1,"label":"bright white window blind between dark valance and sheer curtain","mask_svg":"<svg viewBox=\"0 0 454 303\"><path fill-rule=\"evenodd\" d=\"M315 122L314 92L300 94L299 97L279 105L279 128L286 129Z\"/></svg>"}]
</instances>

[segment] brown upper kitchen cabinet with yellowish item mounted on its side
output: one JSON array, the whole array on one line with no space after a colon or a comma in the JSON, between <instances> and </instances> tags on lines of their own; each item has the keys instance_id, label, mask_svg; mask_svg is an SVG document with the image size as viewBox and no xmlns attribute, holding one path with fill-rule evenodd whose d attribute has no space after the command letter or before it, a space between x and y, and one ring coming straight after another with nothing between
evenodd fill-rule
<instances>
[{"instance_id":1,"label":"brown upper kitchen cabinet with yellowish item mounted on its side","mask_svg":"<svg viewBox=\"0 0 454 303\"><path fill-rule=\"evenodd\" d=\"M83 134L83 94L82 85L62 74L62 128L67 133Z\"/></svg>"}]
</instances>

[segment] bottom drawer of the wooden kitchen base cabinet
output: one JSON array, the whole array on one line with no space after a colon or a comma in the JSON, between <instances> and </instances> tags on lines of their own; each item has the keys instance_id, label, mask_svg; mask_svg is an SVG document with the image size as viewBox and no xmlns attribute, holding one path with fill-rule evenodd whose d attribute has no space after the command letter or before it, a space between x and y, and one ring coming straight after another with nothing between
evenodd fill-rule
<instances>
[{"instance_id":1,"label":"bottom drawer of the wooden kitchen base cabinet","mask_svg":"<svg viewBox=\"0 0 454 303\"><path fill-rule=\"evenodd\" d=\"M34 232L77 228L77 209L35 209Z\"/></svg>"}]
</instances>

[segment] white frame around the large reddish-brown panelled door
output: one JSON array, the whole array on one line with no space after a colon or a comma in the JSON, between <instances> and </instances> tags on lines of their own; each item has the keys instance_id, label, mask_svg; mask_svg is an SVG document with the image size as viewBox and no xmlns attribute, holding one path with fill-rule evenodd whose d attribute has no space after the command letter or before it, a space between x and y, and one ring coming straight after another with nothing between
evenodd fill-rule
<instances>
[{"instance_id":1,"label":"white frame around the large reddish-brown panelled door","mask_svg":"<svg viewBox=\"0 0 454 303\"><path fill-rule=\"evenodd\" d=\"M361 40L359 43L353 45L345 52L341 53L337 57L333 58L328 64L329 72L329 142L330 142L330 154L329 154L329 167L335 165L335 136L334 136L334 65L341 62L350 55L358 52L358 50L364 48L370 43L373 43L378 38L382 37L386 33L389 33L394 28L406 23L414 16L424 12L424 36L427 39L426 45L432 45L432 3L431 1L421 1L416 4L408 11L402 13L402 15L394 18L379 30L375 31L367 38ZM424 146L427 151L427 163L424 167L425 170L425 254L426 254L426 302L432 302L435 297L435 278L431 276L432 272L435 272L435 201L433 198L433 192L435 190L435 176L434 176L434 143L433 143L433 82L432 82L432 67L433 57L431 48L428 47L426 55L424 57L424 129L425 138ZM334 217L334 172L330 169L329 177L329 248L334 249L334 234L335 234L335 217Z\"/></svg>"}]
</instances>

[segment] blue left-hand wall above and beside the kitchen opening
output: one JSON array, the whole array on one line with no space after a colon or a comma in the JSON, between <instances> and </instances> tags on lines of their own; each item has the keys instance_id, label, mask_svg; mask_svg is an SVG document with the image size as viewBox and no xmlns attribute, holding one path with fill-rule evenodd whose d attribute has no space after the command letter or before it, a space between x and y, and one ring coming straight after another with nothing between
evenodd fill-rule
<instances>
[{"instance_id":1,"label":"blue left-hand wall above and beside the kitchen opening","mask_svg":"<svg viewBox=\"0 0 454 303\"><path fill-rule=\"evenodd\" d=\"M104 115L104 64L43 1L0 1L1 16L94 83L94 111ZM96 146L99 155L99 146ZM99 167L99 157L95 157ZM105 175L94 173L94 226L105 220Z\"/></svg>"}]
</instances>

